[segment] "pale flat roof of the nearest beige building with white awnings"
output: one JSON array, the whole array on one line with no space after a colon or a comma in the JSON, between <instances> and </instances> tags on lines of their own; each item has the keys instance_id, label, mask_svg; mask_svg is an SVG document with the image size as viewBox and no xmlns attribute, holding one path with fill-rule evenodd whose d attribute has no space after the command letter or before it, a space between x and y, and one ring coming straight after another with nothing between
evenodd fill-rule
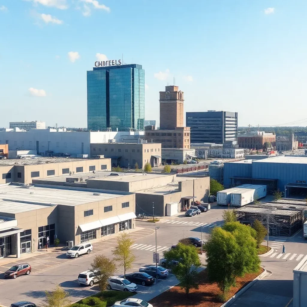
<instances>
[{"instance_id":1,"label":"pale flat roof of the nearest beige building with white awnings","mask_svg":"<svg viewBox=\"0 0 307 307\"><path fill-rule=\"evenodd\" d=\"M99 195L93 193L99 193ZM21 213L58 204L77 206L127 194L130 193L101 192L99 189L87 188L60 188L52 185L48 187L34 186L30 189L22 188L19 185L5 185L0 186L0 212Z\"/></svg>"}]
</instances>

